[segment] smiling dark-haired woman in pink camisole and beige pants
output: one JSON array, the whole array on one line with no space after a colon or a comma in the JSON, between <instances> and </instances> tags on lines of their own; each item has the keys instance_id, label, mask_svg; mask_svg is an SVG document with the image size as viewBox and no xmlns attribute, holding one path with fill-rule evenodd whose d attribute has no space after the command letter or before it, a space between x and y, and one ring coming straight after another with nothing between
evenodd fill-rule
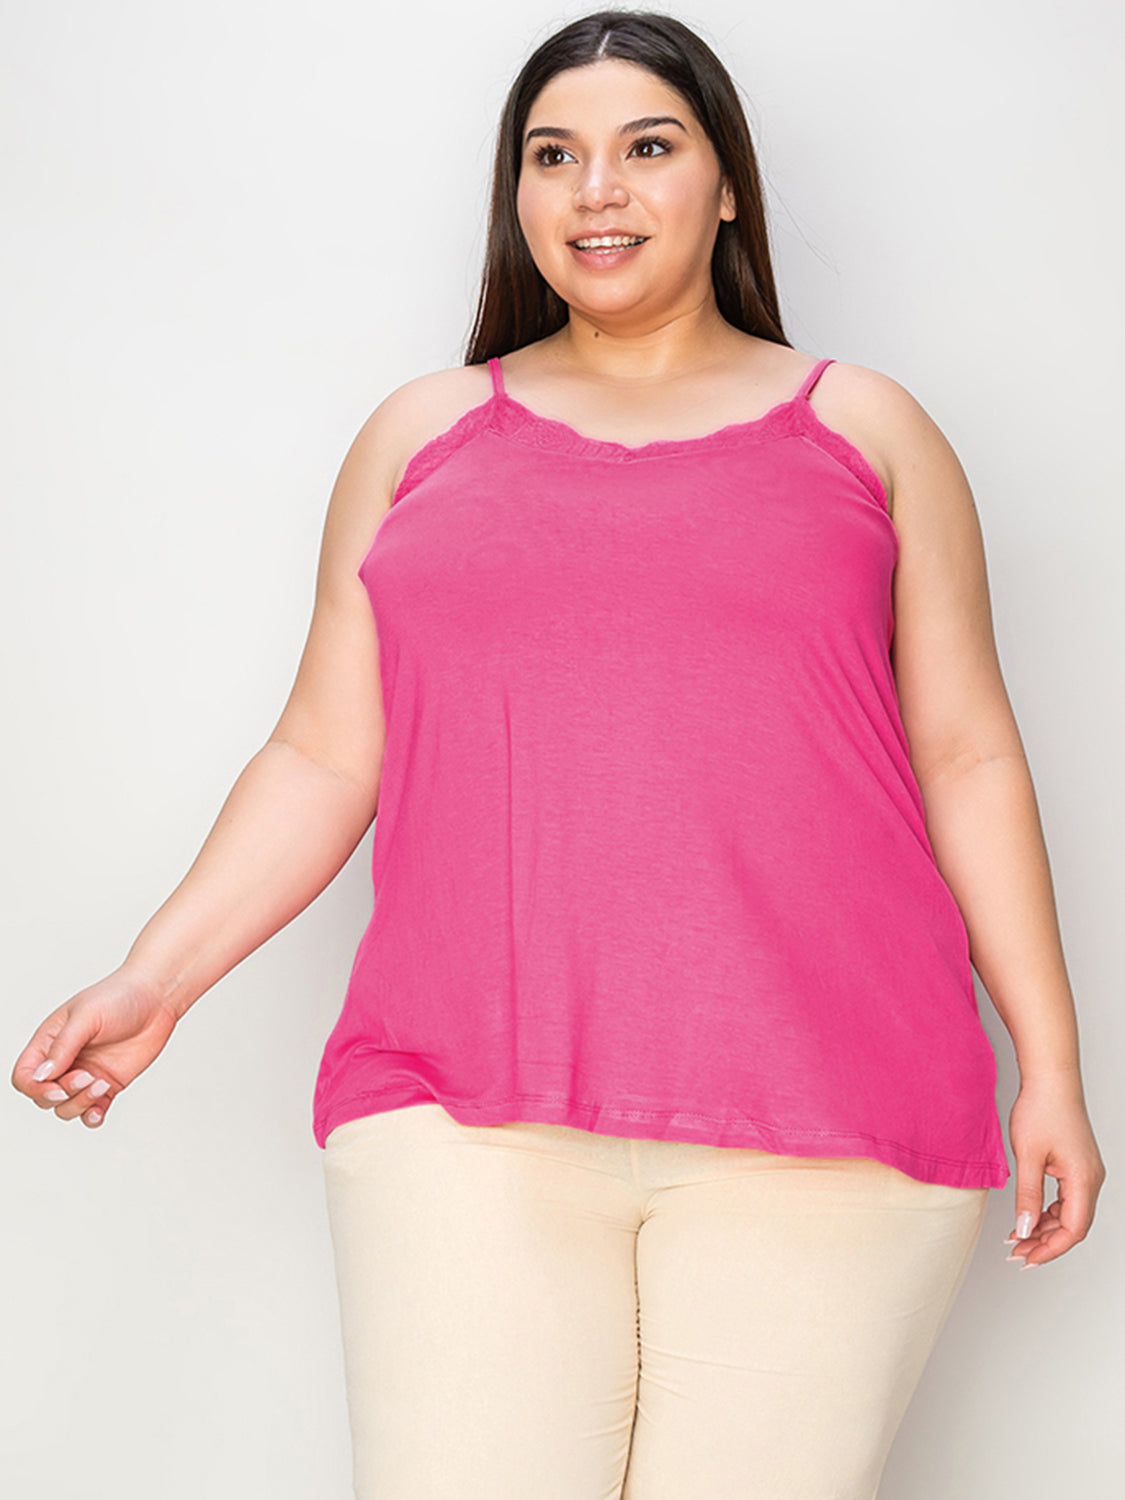
<instances>
[{"instance_id":1,"label":"smiling dark-haired woman in pink camisole and beige pants","mask_svg":"<svg viewBox=\"0 0 1125 1500\"><path fill-rule=\"evenodd\" d=\"M969 942L1008 1258L1106 1168L968 483L784 338L669 16L520 72L466 363L358 434L278 728L15 1086L99 1125L376 801L314 1120L357 1494L873 1496L1010 1174Z\"/></svg>"}]
</instances>

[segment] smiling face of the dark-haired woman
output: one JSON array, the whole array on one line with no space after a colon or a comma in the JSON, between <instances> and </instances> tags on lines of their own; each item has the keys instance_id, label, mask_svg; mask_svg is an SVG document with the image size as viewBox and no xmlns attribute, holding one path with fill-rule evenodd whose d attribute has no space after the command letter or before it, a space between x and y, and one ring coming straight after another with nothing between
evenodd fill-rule
<instances>
[{"instance_id":1,"label":"smiling face of the dark-haired woman","mask_svg":"<svg viewBox=\"0 0 1125 1500\"><path fill-rule=\"evenodd\" d=\"M524 130L516 207L544 280L594 321L652 322L714 298L711 252L735 218L718 158L656 74L603 58L556 74ZM576 240L644 236L633 249Z\"/></svg>"}]
</instances>

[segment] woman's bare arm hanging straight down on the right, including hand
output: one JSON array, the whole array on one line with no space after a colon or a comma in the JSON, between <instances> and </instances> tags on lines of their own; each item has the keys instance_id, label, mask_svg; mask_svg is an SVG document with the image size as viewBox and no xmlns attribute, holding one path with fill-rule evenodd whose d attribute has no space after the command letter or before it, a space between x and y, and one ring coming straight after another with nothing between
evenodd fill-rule
<instances>
[{"instance_id":1,"label":"woman's bare arm hanging straight down on the right, including hand","mask_svg":"<svg viewBox=\"0 0 1125 1500\"><path fill-rule=\"evenodd\" d=\"M1086 1112L1038 801L1000 672L969 482L909 392L867 370L862 386L861 420L880 434L900 542L891 664L903 728L972 964L1012 1038L1014 1254L1042 1264L1086 1238L1106 1164ZM1046 1212L1044 1174L1059 1185Z\"/></svg>"}]
</instances>

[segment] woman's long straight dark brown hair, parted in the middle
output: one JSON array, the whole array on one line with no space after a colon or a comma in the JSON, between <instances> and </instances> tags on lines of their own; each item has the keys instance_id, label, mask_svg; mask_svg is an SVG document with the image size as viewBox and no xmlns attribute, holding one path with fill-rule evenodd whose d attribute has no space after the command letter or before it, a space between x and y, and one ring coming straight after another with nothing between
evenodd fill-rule
<instances>
[{"instance_id":1,"label":"woman's long straight dark brown hair, parted in the middle","mask_svg":"<svg viewBox=\"0 0 1125 1500\"><path fill-rule=\"evenodd\" d=\"M639 63L692 106L706 130L735 200L711 256L718 310L728 322L792 348L782 328L770 236L750 129L734 80L682 21L652 10L594 10L536 48L508 90L496 129L484 268L465 364L478 364L556 333L567 303L531 260L516 213L524 128L542 88L567 68L603 57Z\"/></svg>"}]
</instances>

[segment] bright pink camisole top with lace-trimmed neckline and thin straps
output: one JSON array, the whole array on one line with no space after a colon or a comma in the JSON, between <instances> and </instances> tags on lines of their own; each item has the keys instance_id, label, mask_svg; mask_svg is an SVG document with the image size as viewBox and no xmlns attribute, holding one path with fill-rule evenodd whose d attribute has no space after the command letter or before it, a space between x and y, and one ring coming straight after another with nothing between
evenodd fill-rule
<instances>
[{"instance_id":1,"label":"bright pink camisole top with lace-trimmed neckline and thin straps","mask_svg":"<svg viewBox=\"0 0 1125 1500\"><path fill-rule=\"evenodd\" d=\"M898 538L808 404L830 363L626 447L492 360L411 459L358 570L387 742L320 1146L436 1100L1006 1182L891 672Z\"/></svg>"}]
</instances>

